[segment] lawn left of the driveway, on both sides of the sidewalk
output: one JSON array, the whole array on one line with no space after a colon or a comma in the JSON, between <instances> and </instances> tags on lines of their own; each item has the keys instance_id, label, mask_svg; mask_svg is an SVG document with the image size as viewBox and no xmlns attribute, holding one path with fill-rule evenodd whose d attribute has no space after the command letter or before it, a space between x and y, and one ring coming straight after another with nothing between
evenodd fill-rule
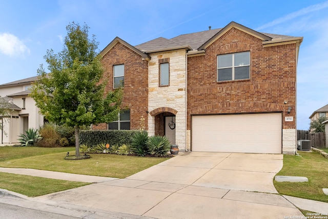
<instances>
[{"instance_id":1,"label":"lawn left of the driveway, on both sides of the sidewalk","mask_svg":"<svg viewBox=\"0 0 328 219\"><path fill-rule=\"evenodd\" d=\"M90 159L70 161L64 160L67 152L75 154L75 148L0 147L0 167L125 178L169 159L91 154ZM90 184L3 172L0 178L0 188L32 197Z\"/></svg>"}]
</instances>

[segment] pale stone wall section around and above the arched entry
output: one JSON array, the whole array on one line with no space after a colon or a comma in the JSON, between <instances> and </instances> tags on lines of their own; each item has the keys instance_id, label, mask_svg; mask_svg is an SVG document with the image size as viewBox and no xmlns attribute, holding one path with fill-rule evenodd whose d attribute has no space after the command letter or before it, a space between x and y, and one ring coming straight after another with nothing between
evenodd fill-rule
<instances>
[{"instance_id":1,"label":"pale stone wall section around and above the arched entry","mask_svg":"<svg viewBox=\"0 0 328 219\"><path fill-rule=\"evenodd\" d=\"M175 115L175 144L185 150L186 143L186 50L153 53L148 65L148 111L169 107ZM170 86L159 87L159 59L169 58ZM163 112L163 111L162 111ZM155 116L148 114L148 133L155 134Z\"/></svg>"}]
</instances>

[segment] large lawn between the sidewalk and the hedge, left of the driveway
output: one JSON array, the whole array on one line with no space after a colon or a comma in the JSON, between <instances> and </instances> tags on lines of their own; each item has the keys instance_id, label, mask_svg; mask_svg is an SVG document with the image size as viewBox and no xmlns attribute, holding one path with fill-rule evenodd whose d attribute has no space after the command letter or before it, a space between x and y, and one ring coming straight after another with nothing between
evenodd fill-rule
<instances>
[{"instance_id":1,"label":"large lawn between the sidewalk and the hedge, left of the driveway","mask_svg":"<svg viewBox=\"0 0 328 219\"><path fill-rule=\"evenodd\" d=\"M11 149L5 149L8 156L11 156L12 158L3 158L3 161L0 161L0 167L31 168L66 173L125 178L169 159L167 157L160 158L115 154L90 154L91 158L87 160L64 160L67 152L70 152L70 154L75 154L74 148L64 148L66 150L58 150L57 148L53 148L53 153L35 156L25 153L29 149L29 147L12 147ZM21 156L24 156L22 154L27 154L27 157L17 159L17 155L15 155L15 153L11 150L16 153L20 153ZM3 148L0 147L0 154L2 154L2 151ZM49 151L50 150L47 152Z\"/></svg>"}]
</instances>

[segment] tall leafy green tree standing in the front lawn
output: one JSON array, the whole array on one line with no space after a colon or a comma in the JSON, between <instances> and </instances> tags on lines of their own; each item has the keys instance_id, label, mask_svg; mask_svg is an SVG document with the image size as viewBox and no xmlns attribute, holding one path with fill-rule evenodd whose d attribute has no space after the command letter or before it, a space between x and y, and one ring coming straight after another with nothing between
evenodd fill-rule
<instances>
[{"instance_id":1,"label":"tall leafy green tree standing in the front lawn","mask_svg":"<svg viewBox=\"0 0 328 219\"><path fill-rule=\"evenodd\" d=\"M117 118L122 90L104 94L103 66L96 52L95 36L89 39L89 27L70 23L63 50L54 54L47 50L48 63L37 70L38 81L33 84L31 96L50 122L75 128L75 151L79 156L79 127L112 122Z\"/></svg>"}]
</instances>

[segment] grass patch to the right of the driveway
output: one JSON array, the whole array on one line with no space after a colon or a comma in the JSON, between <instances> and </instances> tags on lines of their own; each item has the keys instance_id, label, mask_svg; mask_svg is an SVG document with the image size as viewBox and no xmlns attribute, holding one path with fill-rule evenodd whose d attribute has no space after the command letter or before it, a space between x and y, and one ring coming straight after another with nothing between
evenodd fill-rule
<instances>
[{"instance_id":1,"label":"grass patch to the right of the driveway","mask_svg":"<svg viewBox=\"0 0 328 219\"><path fill-rule=\"evenodd\" d=\"M328 202L322 188L328 188L328 159L316 152L301 152L301 156L284 155L283 168L277 175L305 176L309 182L276 182L274 185L280 194L309 200Z\"/></svg>"}]
</instances>

